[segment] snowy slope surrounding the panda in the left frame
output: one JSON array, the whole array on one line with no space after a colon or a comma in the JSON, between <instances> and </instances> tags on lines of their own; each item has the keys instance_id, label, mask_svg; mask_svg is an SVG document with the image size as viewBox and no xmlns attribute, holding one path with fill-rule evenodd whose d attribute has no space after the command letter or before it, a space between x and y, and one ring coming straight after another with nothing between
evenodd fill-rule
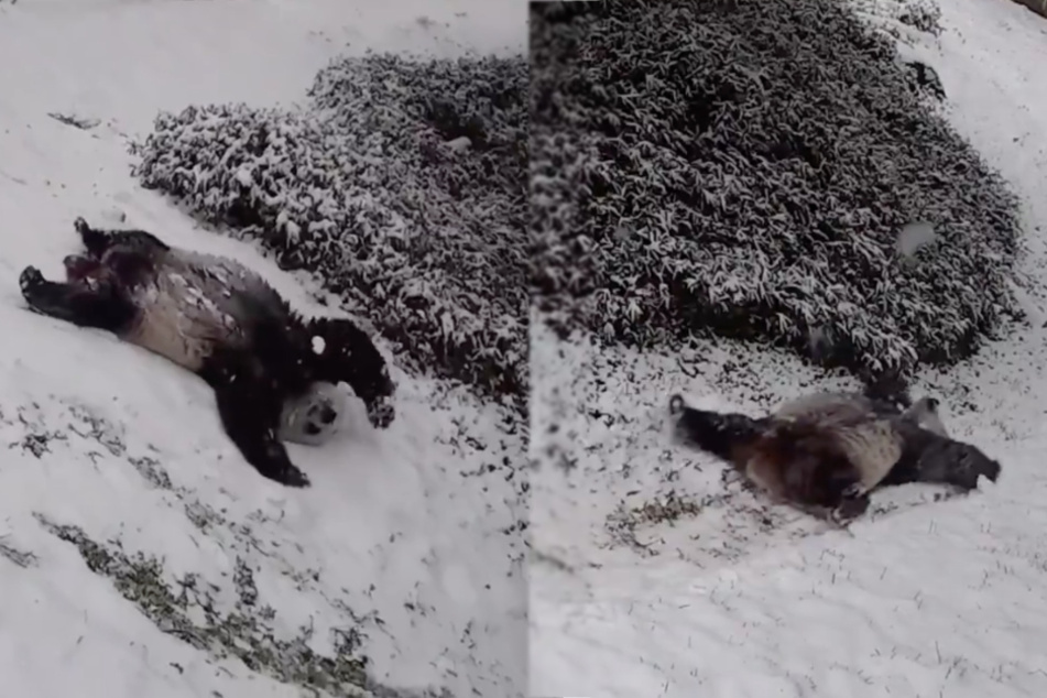
<instances>
[{"instance_id":1,"label":"snowy slope surrounding the panda in the left frame","mask_svg":"<svg viewBox=\"0 0 1047 698\"><path fill-rule=\"evenodd\" d=\"M200 381L26 312L17 279L26 264L58 274L83 215L236 257L318 312L303 279L141 190L127 137L161 109L301 99L346 44L450 56L525 41L512 0L0 4L6 695L305 695L306 672L314 683L353 673L348 654L318 656L335 656L350 629L385 686L523 694L522 512L512 483L480 473L523 452L498 407L394 366L396 423L375 433L355 403L359 426L338 443L291 447L314 487L284 489L241 460Z\"/></svg>"}]
</instances>

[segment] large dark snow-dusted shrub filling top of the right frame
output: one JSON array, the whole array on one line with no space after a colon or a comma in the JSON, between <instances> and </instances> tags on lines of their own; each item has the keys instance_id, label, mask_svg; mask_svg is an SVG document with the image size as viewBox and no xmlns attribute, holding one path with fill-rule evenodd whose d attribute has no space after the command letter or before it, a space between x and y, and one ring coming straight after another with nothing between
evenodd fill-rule
<instances>
[{"instance_id":1,"label":"large dark snow-dusted shrub filling top of the right frame","mask_svg":"<svg viewBox=\"0 0 1047 698\"><path fill-rule=\"evenodd\" d=\"M1012 312L1014 196L840 3L584 4L531 29L533 284L559 329L879 375ZM934 241L899 248L907 223Z\"/></svg>"}]
</instances>

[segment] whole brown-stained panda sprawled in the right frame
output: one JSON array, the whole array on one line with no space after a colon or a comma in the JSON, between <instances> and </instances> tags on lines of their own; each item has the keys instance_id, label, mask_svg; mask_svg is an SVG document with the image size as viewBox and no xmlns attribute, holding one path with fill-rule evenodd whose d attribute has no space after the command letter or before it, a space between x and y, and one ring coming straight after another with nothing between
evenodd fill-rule
<instances>
[{"instance_id":1,"label":"whole brown-stained panda sprawled in the right frame","mask_svg":"<svg viewBox=\"0 0 1047 698\"><path fill-rule=\"evenodd\" d=\"M937 401L905 411L858 393L817 393L752 418L669 400L676 437L731 462L775 499L819 515L853 517L883 484L934 482L974 489L1000 463L948 436Z\"/></svg>"}]
</instances>

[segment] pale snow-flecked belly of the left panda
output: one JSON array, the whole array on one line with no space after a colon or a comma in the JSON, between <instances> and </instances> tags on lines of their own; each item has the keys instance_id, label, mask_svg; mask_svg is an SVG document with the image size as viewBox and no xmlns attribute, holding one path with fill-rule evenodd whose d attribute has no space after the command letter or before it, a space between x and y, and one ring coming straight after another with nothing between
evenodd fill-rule
<instances>
[{"instance_id":1,"label":"pale snow-flecked belly of the left panda","mask_svg":"<svg viewBox=\"0 0 1047 698\"><path fill-rule=\"evenodd\" d=\"M217 346L242 343L228 288L207 276L161 271L132 295L139 316L123 340L197 372Z\"/></svg>"}]
</instances>

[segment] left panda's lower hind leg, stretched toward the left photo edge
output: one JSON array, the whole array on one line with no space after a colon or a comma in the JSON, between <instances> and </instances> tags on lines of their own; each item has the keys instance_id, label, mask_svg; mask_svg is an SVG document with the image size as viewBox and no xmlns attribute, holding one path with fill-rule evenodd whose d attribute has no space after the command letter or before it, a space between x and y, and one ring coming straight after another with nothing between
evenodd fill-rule
<instances>
[{"instance_id":1,"label":"left panda's lower hind leg, stretched toward the left photo edge","mask_svg":"<svg viewBox=\"0 0 1047 698\"><path fill-rule=\"evenodd\" d=\"M108 284L90 287L81 283L47 281L35 266L19 276L22 297L30 308L80 327L119 332L135 316L134 306Z\"/></svg>"}]
</instances>

